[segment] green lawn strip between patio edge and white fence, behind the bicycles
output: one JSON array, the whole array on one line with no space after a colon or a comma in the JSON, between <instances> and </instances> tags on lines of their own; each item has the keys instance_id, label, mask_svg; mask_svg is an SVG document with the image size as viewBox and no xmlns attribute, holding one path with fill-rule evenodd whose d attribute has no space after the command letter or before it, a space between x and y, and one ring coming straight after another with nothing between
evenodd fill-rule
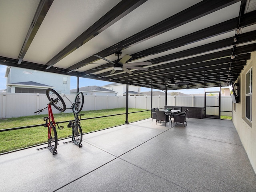
<instances>
[{"instance_id":1,"label":"green lawn strip between patio edge and white fence, behind the bicycles","mask_svg":"<svg viewBox=\"0 0 256 192\"><path fill-rule=\"evenodd\" d=\"M142 110L143 109L129 108L128 112L136 112ZM125 108L98 111L82 111L80 113L85 114L85 116L82 116L82 118L90 118L112 114L122 114L125 113ZM44 124L43 118L46 116L47 115L35 115L3 119L0 120L0 129ZM128 117L129 122L150 118L150 111L132 113L129 114ZM74 115L73 113L54 114L54 119L56 122L68 121L73 120ZM83 133L87 133L124 124L125 115L81 120L80 122L82 125ZM59 124L59 126L64 126L64 129L57 129L58 139L71 136L71 128L68 128L67 125L68 123ZM47 142L47 128L45 128L44 126L0 132L0 153L25 148L45 142Z\"/></svg>"}]
</instances>

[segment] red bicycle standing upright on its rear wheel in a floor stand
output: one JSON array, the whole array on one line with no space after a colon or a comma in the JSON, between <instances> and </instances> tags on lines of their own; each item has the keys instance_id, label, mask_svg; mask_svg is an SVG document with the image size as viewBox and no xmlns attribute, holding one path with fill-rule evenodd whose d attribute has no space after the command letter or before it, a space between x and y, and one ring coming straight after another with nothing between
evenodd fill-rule
<instances>
[{"instance_id":1,"label":"red bicycle standing upright on its rear wheel in a floor stand","mask_svg":"<svg viewBox=\"0 0 256 192\"><path fill-rule=\"evenodd\" d=\"M65 111L66 110L66 104L64 100L61 98L61 96L53 89L47 89L46 90L46 96L48 100L50 101L47 104L48 108L48 117L44 117L44 127L48 127L48 147L43 147L43 148L37 148L37 150L42 150L45 148L48 148L52 154L57 154L57 146L58 146L58 136L57 136L57 131L56 131L56 125L58 124L54 120L54 116L52 113L52 106L56 108L59 111ZM46 108L40 109L36 111L35 113L40 113ZM63 129L63 126L58 126L59 129Z\"/></svg>"}]
</instances>

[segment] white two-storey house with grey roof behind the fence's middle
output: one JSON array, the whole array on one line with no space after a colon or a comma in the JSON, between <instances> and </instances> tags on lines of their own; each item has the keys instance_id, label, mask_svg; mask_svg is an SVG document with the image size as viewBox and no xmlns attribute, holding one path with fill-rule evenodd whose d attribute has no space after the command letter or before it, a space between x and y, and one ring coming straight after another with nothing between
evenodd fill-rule
<instances>
[{"instance_id":1,"label":"white two-storey house with grey roof behind the fence's middle","mask_svg":"<svg viewBox=\"0 0 256 192\"><path fill-rule=\"evenodd\" d=\"M117 96L125 96L126 95L126 84L111 83L111 84L108 84L108 85L104 85L102 87L117 92ZM144 95L144 94L141 94L140 87L134 86L134 85L129 85L129 92L128 92L128 94L130 96L134 96L134 95L141 96L141 95Z\"/></svg>"}]
</instances>

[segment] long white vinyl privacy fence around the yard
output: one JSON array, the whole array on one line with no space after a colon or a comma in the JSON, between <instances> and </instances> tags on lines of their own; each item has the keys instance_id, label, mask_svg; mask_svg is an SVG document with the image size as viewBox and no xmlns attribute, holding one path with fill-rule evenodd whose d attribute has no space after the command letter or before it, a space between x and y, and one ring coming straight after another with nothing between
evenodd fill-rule
<instances>
[{"instance_id":1,"label":"long white vinyl privacy fence around the yard","mask_svg":"<svg viewBox=\"0 0 256 192\"><path fill-rule=\"evenodd\" d=\"M65 113L72 112L68 109L76 95L63 96L66 103ZM215 97L215 96L213 96ZM223 111L232 110L231 96L221 97L221 109ZM46 94L28 94L28 93L0 93L0 119L20 116L33 116L38 109L45 108L48 103ZM125 96L88 96L84 95L83 111L124 108L126 106ZM165 96L153 96L152 108L164 108ZM170 106L194 106L204 107L204 96L167 96L167 105ZM129 108L151 109L151 96L129 96ZM53 113L60 113L54 107ZM48 114L45 110L40 114ZM225 114L222 114L225 115ZM230 113L229 113L230 115Z\"/></svg>"}]
</instances>

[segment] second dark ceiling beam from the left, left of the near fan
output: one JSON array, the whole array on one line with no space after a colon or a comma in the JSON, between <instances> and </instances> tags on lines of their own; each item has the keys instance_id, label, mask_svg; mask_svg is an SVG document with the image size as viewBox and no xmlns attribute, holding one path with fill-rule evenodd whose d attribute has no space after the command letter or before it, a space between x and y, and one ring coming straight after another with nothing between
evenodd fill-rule
<instances>
[{"instance_id":1,"label":"second dark ceiling beam from the left, left of the near fan","mask_svg":"<svg viewBox=\"0 0 256 192\"><path fill-rule=\"evenodd\" d=\"M78 49L80 46L100 34L106 28L114 24L116 21L120 20L128 13L132 12L138 6L142 5L147 0L122 0L109 12L107 12L102 18L95 22L90 28L84 31L80 36L78 36L73 42L61 50L56 56L54 56L50 61L46 63L46 69L49 69L58 61L62 60L64 57L68 56L74 50Z\"/></svg>"}]
</instances>

